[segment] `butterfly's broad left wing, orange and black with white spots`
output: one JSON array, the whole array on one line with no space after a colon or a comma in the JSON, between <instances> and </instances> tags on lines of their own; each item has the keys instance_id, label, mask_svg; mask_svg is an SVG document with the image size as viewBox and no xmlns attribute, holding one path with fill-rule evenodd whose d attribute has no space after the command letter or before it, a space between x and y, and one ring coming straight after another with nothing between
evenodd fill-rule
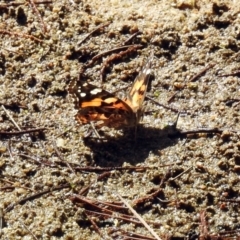
<instances>
[{"instance_id":1,"label":"butterfly's broad left wing, orange and black with white spots","mask_svg":"<svg viewBox=\"0 0 240 240\"><path fill-rule=\"evenodd\" d=\"M135 121L130 106L113 94L92 84L72 82L69 92L73 94L75 107L79 109L76 119L81 123L101 121L101 126L120 128L122 125Z\"/></svg>"}]
</instances>

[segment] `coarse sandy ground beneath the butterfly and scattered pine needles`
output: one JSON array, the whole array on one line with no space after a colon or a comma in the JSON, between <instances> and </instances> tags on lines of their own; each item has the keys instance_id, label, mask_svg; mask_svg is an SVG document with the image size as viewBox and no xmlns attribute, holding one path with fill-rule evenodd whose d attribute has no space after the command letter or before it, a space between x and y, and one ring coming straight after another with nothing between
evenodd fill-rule
<instances>
[{"instance_id":1,"label":"coarse sandy ground beneath the butterfly and scattered pine needles","mask_svg":"<svg viewBox=\"0 0 240 240\"><path fill-rule=\"evenodd\" d=\"M226 231L237 238L239 200L221 199L239 199L239 74L220 75L239 71L238 1L57 0L36 8L43 22L28 2L0 7L0 131L45 128L1 134L1 239L133 239L124 238L128 233L156 239L117 213L104 218L86 212L99 210L76 199L125 206L119 195L161 239L226 237ZM101 69L112 56L105 54L86 68L86 79L109 92L121 90L153 52L148 96L185 112L180 130L223 132L170 137L166 126L176 112L146 99L136 143L132 129L103 128L104 140L84 139L91 129L75 122L69 83L92 57L124 45L137 32L127 44L140 48L110 62L102 81ZM91 172L77 166L110 168ZM148 168L114 169L122 166Z\"/></svg>"}]
</instances>

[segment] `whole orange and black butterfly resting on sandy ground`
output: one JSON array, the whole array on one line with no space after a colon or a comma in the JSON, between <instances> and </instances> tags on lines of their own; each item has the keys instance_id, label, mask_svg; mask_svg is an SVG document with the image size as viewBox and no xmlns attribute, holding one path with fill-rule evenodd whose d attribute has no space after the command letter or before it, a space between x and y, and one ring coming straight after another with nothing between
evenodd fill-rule
<instances>
[{"instance_id":1,"label":"whole orange and black butterfly resting on sandy ground","mask_svg":"<svg viewBox=\"0 0 240 240\"><path fill-rule=\"evenodd\" d=\"M115 129L136 126L144 113L142 104L151 75L152 59L150 57L139 72L125 99L86 81L72 81L69 93L78 110L76 120L82 124L97 122L97 127Z\"/></svg>"}]
</instances>

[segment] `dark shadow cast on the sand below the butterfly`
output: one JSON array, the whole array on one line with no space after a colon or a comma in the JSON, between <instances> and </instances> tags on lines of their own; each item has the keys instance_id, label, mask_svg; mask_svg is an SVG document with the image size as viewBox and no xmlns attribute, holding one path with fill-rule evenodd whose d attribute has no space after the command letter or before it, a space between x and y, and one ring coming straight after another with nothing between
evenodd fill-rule
<instances>
[{"instance_id":1,"label":"dark shadow cast on the sand below the butterfly","mask_svg":"<svg viewBox=\"0 0 240 240\"><path fill-rule=\"evenodd\" d=\"M122 166L124 162L136 165L144 162L150 152L160 155L162 149L174 145L176 141L176 137L169 137L169 129L141 125L138 126L136 138L135 129L126 129L121 136L84 139L85 145L93 152L92 160L101 167Z\"/></svg>"}]
</instances>

